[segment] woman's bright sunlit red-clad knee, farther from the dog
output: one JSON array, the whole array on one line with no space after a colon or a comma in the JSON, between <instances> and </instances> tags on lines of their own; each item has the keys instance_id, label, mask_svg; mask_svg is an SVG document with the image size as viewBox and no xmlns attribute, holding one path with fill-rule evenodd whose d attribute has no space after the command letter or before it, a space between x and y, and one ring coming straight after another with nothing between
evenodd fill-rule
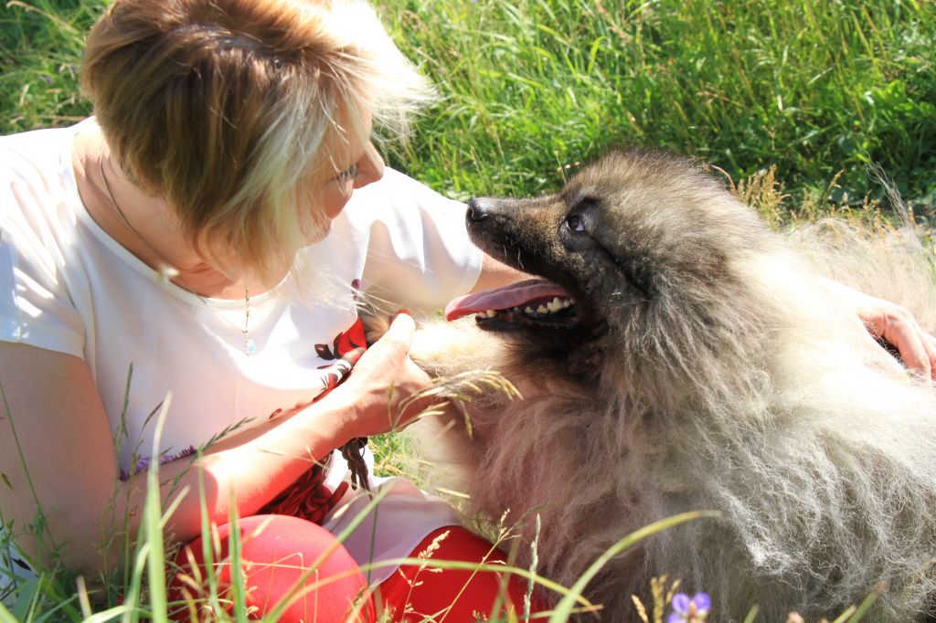
<instances>
[{"instance_id":1,"label":"woman's bright sunlit red-clad knee, farther from the dog","mask_svg":"<svg viewBox=\"0 0 936 623\"><path fill-rule=\"evenodd\" d=\"M241 534L241 569L243 570L247 607L252 618L273 610L284 597L304 580L310 590L286 608L281 621L337 623L373 621L373 605L364 576L357 563L328 530L312 522L281 514L256 515L238 521ZM228 534L230 525L218 528L221 551L213 554L213 569L222 599L232 599ZM333 552L314 572L314 562L329 548ZM190 560L197 564L193 571ZM197 587L179 575L172 582L170 599L183 599L183 590L197 606L204 607L207 597L202 540L183 547L176 558L184 574L200 577ZM228 608L230 611L230 608ZM180 613L177 617L191 616ZM196 616L197 620L204 618Z\"/></svg>"}]
</instances>

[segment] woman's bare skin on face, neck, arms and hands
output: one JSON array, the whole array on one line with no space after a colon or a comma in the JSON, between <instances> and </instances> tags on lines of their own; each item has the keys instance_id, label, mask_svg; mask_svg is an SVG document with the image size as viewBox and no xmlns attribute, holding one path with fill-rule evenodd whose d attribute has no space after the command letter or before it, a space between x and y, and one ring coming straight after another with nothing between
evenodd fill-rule
<instances>
[{"instance_id":1,"label":"woman's bare skin on face, neck, arms and hands","mask_svg":"<svg viewBox=\"0 0 936 623\"><path fill-rule=\"evenodd\" d=\"M384 163L370 142L345 147L344 159L336 157L335 164L345 168L357 164L357 177L343 181L330 167L314 175L320 209L329 219L341 213L355 188L379 180L384 171ZM203 297L241 298L245 286L255 293L265 289L261 283L242 277L227 277L199 256L182 235L168 205L127 180L100 135L80 136L73 155L80 195L89 213L142 261L153 268L161 262L170 263L179 270L172 281ZM110 206L100 179L100 164L114 199L145 243ZM520 276L513 268L486 257L475 290L516 281ZM921 331L909 313L886 301L849 292L856 301L856 314L870 330L898 346L914 368L928 374L936 370L936 340ZM361 357L355 374L326 398L293 407L288 416L215 444L211 454L196 461L197 469L189 469L187 461L170 463L161 469L161 477L170 483L179 476L180 485L197 491L197 472L202 471L213 522L227 521L230 504L241 516L256 513L307 470L310 461L355 437L393 428L387 417L390 385L394 395L402 399L429 382L408 356L413 331L412 319L398 316L384 338ZM102 534L112 529L102 523L102 516L110 500L115 500L114 516L129 514L129 534L135 535L139 522L136 511L142 507L145 492L142 479L124 483L115 478L117 454L90 369L76 356L0 342L0 379L10 413L16 414L19 439L17 447L6 427L0 434L0 472L11 485L0 485L4 520L22 527L35 519L36 500L31 493L35 487L48 534L53 544L61 546L66 565L89 577L96 577L99 570L113 569L116 552L102 552L100 545ZM32 487L21 456L25 457ZM200 530L198 497L188 495L169 518L167 531L186 543ZM38 550L42 556L43 548L32 539L22 538L20 544L27 552Z\"/></svg>"}]
</instances>

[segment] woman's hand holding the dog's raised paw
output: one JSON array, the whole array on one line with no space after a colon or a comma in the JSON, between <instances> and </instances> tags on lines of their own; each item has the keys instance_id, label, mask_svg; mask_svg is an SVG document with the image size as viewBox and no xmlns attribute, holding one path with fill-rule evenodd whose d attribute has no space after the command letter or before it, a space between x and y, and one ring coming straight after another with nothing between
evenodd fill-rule
<instances>
[{"instance_id":1,"label":"woman's hand holding the dog's raised paw","mask_svg":"<svg viewBox=\"0 0 936 623\"><path fill-rule=\"evenodd\" d=\"M323 405L344 405L348 439L399 430L428 406L428 400L412 399L431 383L409 357L415 330L408 314L397 314L387 333L361 355L347 380L321 400Z\"/></svg>"}]
</instances>

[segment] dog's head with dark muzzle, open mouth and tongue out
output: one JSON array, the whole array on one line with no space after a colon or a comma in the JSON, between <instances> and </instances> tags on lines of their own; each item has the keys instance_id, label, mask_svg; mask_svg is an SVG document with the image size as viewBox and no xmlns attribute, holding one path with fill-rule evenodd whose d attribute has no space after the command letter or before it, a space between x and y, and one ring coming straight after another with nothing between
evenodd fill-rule
<instances>
[{"instance_id":1,"label":"dog's head with dark muzzle, open mouth and tongue out","mask_svg":"<svg viewBox=\"0 0 936 623\"><path fill-rule=\"evenodd\" d=\"M720 181L659 152L611 152L555 195L474 199L466 221L475 244L535 278L456 299L449 319L475 313L483 328L570 348L610 331L631 354L732 333L734 260L768 236Z\"/></svg>"}]
</instances>

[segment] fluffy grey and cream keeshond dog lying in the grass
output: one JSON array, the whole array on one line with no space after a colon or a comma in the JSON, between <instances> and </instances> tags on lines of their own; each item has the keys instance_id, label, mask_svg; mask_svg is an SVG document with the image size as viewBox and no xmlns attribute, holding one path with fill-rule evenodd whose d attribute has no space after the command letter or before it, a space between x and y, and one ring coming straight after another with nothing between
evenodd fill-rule
<instances>
[{"instance_id":1,"label":"fluffy grey and cream keeshond dog lying in the grass","mask_svg":"<svg viewBox=\"0 0 936 623\"><path fill-rule=\"evenodd\" d=\"M475 199L466 221L534 276L417 332L432 374L499 370L524 396L475 398L470 430L459 415L432 425L469 514L518 522L528 544L538 514L538 572L571 586L636 529L720 512L613 558L585 593L604 620L636 620L632 594L664 573L711 595L710 620L754 604L757 620L818 620L874 591L864 620L932 615L936 389L826 279L931 331L918 239L835 222L791 239L693 161L654 152L612 152L555 195Z\"/></svg>"}]
</instances>

